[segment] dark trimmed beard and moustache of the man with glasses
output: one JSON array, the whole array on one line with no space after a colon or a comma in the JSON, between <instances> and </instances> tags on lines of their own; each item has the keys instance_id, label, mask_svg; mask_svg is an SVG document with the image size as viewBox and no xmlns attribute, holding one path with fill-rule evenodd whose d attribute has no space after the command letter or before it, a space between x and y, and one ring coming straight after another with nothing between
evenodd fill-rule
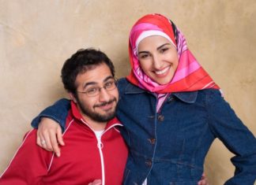
<instances>
[{"instance_id":1,"label":"dark trimmed beard and moustache of the man with glasses","mask_svg":"<svg viewBox=\"0 0 256 185\"><path fill-rule=\"evenodd\" d=\"M108 104L111 104L112 102L117 102L116 98L113 98L108 102L103 102L103 103L94 105L92 108L94 109L96 107L108 105ZM93 112L92 109L89 109L88 106L84 105L79 100L79 98L77 98L77 104L79 105L82 113L84 113L86 116L90 117L92 120L95 120L97 122L105 123L106 121L108 122L109 120L112 120L115 117L116 106L115 106L115 109L113 111L103 114L103 113Z\"/></svg>"}]
</instances>

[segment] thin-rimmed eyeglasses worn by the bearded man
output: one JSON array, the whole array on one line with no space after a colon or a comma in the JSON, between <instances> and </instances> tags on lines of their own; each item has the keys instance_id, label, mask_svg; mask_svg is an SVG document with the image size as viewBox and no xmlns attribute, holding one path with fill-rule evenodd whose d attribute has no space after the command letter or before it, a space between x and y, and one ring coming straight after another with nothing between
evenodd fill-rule
<instances>
[{"instance_id":1,"label":"thin-rimmed eyeglasses worn by the bearded man","mask_svg":"<svg viewBox=\"0 0 256 185\"><path fill-rule=\"evenodd\" d=\"M77 91L78 93L86 94L88 96L96 96L100 94L100 90L104 88L106 91L112 91L116 88L116 80L108 80L104 83L104 87L90 87L85 91Z\"/></svg>"}]
</instances>

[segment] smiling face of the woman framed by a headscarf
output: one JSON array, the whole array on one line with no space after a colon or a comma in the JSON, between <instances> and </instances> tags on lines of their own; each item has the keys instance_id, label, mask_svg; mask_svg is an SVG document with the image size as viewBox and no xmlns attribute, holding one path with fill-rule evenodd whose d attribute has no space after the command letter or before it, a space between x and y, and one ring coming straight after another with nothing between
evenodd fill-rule
<instances>
[{"instance_id":1,"label":"smiling face of the woman framed by a headscarf","mask_svg":"<svg viewBox=\"0 0 256 185\"><path fill-rule=\"evenodd\" d=\"M160 85L171 81L179 64L175 46L168 39L153 35L141 40L138 60L147 76Z\"/></svg>"}]
</instances>

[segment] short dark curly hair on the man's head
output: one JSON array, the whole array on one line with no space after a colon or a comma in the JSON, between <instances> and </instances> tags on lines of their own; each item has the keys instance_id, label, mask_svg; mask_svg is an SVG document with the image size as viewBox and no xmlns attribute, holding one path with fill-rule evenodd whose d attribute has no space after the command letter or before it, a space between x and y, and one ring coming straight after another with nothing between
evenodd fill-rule
<instances>
[{"instance_id":1,"label":"short dark curly hair on the man's head","mask_svg":"<svg viewBox=\"0 0 256 185\"><path fill-rule=\"evenodd\" d=\"M66 91L76 95L77 75L101 64L106 64L110 68L112 76L115 77L114 65L102 51L92 48L77 50L77 53L67 59L62 67L61 77Z\"/></svg>"}]
</instances>

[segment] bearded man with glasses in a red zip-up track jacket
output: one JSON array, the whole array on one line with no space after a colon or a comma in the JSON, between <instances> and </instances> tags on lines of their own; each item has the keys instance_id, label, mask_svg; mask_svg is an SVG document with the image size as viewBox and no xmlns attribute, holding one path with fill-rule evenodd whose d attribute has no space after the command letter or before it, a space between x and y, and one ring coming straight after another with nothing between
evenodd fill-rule
<instances>
[{"instance_id":1,"label":"bearded man with glasses in a red zip-up track jacket","mask_svg":"<svg viewBox=\"0 0 256 185\"><path fill-rule=\"evenodd\" d=\"M115 118L113 64L100 50L78 50L63 65L62 83L72 99L62 157L37 146L36 130L29 131L0 184L122 183L127 149Z\"/></svg>"}]
</instances>

